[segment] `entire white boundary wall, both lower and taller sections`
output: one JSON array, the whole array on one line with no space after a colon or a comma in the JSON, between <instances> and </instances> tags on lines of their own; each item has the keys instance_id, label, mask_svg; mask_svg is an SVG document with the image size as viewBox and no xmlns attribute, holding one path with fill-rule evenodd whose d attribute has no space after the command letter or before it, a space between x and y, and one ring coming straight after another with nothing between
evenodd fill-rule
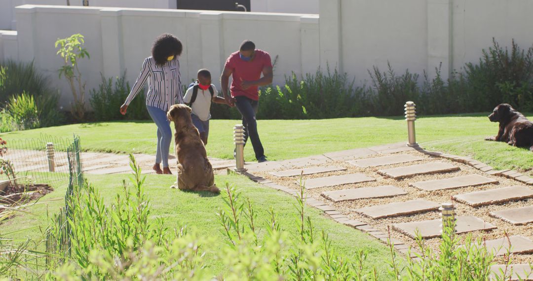
<instances>
[{"instance_id":1,"label":"entire white boundary wall, both lower and taller sections","mask_svg":"<svg viewBox=\"0 0 533 281\"><path fill-rule=\"evenodd\" d=\"M432 78L442 64L446 79L465 63L478 62L492 37L502 46L510 46L513 38L523 49L533 44L531 0L319 1L320 19L316 14L24 5L17 8L17 31L0 31L0 60L35 59L54 85L69 93L57 76L61 59L54 42L81 33L91 54L80 64L87 89L98 87L100 73L112 77L125 70L131 84L154 38L171 32L184 42L184 84L198 69L208 68L220 86L225 59L242 40L251 39L272 59L279 55L274 84L292 71L301 75L329 65L361 85L374 65L385 71L390 62L398 74L425 70ZM64 94L63 104L69 100Z\"/></svg>"}]
</instances>

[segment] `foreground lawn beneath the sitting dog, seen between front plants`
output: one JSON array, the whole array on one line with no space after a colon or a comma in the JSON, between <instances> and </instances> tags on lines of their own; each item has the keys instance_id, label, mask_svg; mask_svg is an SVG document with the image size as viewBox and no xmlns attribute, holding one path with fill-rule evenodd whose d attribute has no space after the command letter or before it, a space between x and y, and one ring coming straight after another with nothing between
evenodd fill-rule
<instances>
[{"instance_id":1,"label":"foreground lawn beneath the sitting dog, seen between front plants","mask_svg":"<svg viewBox=\"0 0 533 281\"><path fill-rule=\"evenodd\" d=\"M86 175L88 181L98 188L106 203L114 200L115 194L120 192L122 180L128 175ZM245 197L248 197L254 204L254 209L258 214L259 223L264 225L268 217L270 207L276 210L280 226L285 230L295 230L296 210L294 204L296 199L288 194L274 191L269 187L253 183L244 176L224 175L216 176L216 184L219 187L225 186L226 182L238 187ZM207 262L213 261L212 257L220 249L227 238L220 232L221 226L217 220L216 211L224 205L222 195L209 193L182 192L170 189L169 186L175 181L173 176L148 175L144 188L150 200L152 218L164 218L165 225L169 229L179 228L182 224L189 228L195 228L201 235L214 237L217 241L214 245L205 245L203 250L207 252ZM129 183L129 180L127 180ZM55 191L45 195L41 200L54 198L64 198L66 185L64 183L54 186ZM29 214L18 214L5 221L1 225L1 233L9 233L13 230L27 228L42 224L46 227L48 223L47 213L54 213L64 205L64 200L53 201L48 204L34 205L28 208ZM365 249L368 251L367 265L376 266L378 272L385 274L387 260L390 258L388 248L362 232L338 224L337 222L322 216L321 211L314 208L306 208L306 212L311 217L317 234L322 229L327 229L333 245L342 252L345 257L353 257L356 251ZM44 231L44 230L43 230ZM263 230L263 234L264 234ZM293 233L295 234L295 233ZM41 230L31 229L17 234L14 237L24 239L25 237L39 238ZM260 234L261 235L261 234ZM208 263L207 266L213 269L214 274L222 272L223 265Z\"/></svg>"}]
</instances>

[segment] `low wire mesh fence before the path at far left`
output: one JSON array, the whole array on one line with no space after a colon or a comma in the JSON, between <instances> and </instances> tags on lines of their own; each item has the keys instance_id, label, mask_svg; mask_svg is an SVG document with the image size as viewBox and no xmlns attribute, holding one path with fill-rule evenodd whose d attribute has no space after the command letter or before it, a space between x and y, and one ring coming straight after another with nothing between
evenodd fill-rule
<instances>
[{"instance_id":1,"label":"low wire mesh fence before the path at far left","mask_svg":"<svg viewBox=\"0 0 533 281\"><path fill-rule=\"evenodd\" d=\"M38 138L13 139L7 142L3 158L10 161L15 177L52 184L68 179L67 151L72 144L72 139L46 134ZM7 179L7 176L0 175L0 179Z\"/></svg>"}]
</instances>

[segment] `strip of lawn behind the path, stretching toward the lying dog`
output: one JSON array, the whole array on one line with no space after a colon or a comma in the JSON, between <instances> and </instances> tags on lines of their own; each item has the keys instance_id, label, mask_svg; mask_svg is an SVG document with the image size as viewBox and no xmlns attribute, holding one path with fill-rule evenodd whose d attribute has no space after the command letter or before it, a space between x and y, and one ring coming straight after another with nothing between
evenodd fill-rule
<instances>
[{"instance_id":1,"label":"strip of lawn behind the path, stretching toward the lying dog","mask_svg":"<svg viewBox=\"0 0 533 281\"><path fill-rule=\"evenodd\" d=\"M533 175L533 154L505 143L487 142L496 135L498 124L489 122L488 113L419 117L417 142L432 151L471 156L496 169L514 168ZM526 114L533 119L533 114ZM259 133L269 160L402 142L407 125L402 117L341 118L326 120L259 120ZM223 159L233 158L232 129L238 120L212 120L207 153ZM87 151L115 153L155 153L156 126L149 121L101 122L18 131L2 135L10 139L33 138L41 133L82 138ZM9 143L8 143L9 146ZM246 146L247 161L253 161L251 145Z\"/></svg>"}]
</instances>

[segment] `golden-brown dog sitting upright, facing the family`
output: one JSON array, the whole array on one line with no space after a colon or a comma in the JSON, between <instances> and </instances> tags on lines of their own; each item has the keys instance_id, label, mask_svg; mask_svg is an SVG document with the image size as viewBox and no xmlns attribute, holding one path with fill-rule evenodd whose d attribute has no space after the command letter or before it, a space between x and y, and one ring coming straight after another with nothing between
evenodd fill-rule
<instances>
[{"instance_id":1,"label":"golden-brown dog sitting upright, facing the family","mask_svg":"<svg viewBox=\"0 0 533 281\"><path fill-rule=\"evenodd\" d=\"M176 128L174 143L177 187L181 190L219 193L220 189L215 185L213 167L207 159L204 143L200 139L198 129L192 125L191 108L184 104L174 104L167 117L168 120L174 121Z\"/></svg>"}]
</instances>

